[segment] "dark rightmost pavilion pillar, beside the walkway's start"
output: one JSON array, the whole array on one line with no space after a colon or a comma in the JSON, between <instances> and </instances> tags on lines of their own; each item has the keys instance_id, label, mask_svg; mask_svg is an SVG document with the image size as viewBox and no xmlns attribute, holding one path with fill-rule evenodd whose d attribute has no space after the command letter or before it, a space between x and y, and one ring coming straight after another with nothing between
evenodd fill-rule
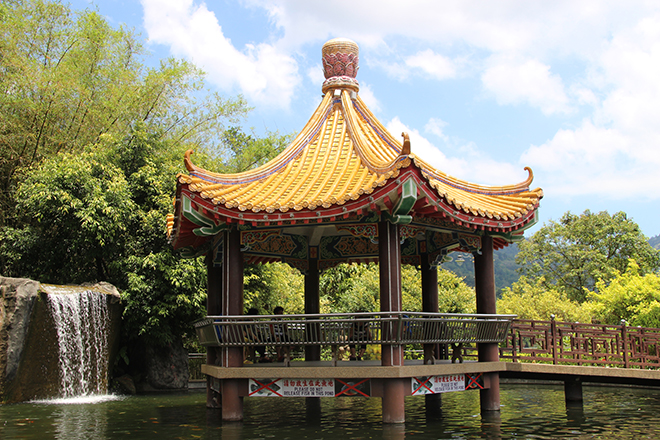
<instances>
[{"instance_id":1,"label":"dark rightmost pavilion pillar, beside the walkway's start","mask_svg":"<svg viewBox=\"0 0 660 440\"><path fill-rule=\"evenodd\" d=\"M474 257L474 278L477 294L477 313L497 313L495 296L495 270L493 266L493 237L481 238L481 255ZM479 362L499 361L499 349L496 343L478 344ZM481 412L500 410L499 373L484 374L484 382L490 387L481 390Z\"/></svg>"}]
</instances>

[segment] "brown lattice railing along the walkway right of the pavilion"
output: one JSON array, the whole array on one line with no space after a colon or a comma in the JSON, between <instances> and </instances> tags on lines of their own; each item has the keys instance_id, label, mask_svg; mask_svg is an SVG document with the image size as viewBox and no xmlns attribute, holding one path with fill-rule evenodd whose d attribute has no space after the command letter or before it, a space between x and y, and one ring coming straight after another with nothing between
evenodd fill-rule
<instances>
[{"instance_id":1,"label":"brown lattice railing along the walkway right of the pavilion","mask_svg":"<svg viewBox=\"0 0 660 440\"><path fill-rule=\"evenodd\" d=\"M470 356L468 356L469 358ZM514 320L500 358L555 365L660 368L660 329Z\"/></svg>"}]
</instances>

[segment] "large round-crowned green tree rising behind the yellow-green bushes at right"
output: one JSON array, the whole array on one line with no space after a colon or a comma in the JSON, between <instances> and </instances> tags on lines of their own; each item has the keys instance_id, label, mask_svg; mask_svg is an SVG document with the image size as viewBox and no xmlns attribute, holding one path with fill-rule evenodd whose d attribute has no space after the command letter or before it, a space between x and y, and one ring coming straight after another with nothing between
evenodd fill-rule
<instances>
[{"instance_id":1,"label":"large round-crowned green tree rising behind the yellow-green bushes at right","mask_svg":"<svg viewBox=\"0 0 660 440\"><path fill-rule=\"evenodd\" d=\"M660 267L659 252L624 212L609 215L587 210L579 216L567 212L519 247L516 262L521 275L542 279L546 288L565 292L578 302L585 301L585 289L596 289L598 281L606 285L624 272L630 259L638 262L642 274Z\"/></svg>"}]
</instances>

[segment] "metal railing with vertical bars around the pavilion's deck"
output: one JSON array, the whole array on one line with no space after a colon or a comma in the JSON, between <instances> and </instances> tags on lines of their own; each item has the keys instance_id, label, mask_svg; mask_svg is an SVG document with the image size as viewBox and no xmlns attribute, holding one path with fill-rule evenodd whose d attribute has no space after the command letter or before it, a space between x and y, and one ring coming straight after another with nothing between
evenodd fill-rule
<instances>
[{"instance_id":1,"label":"metal railing with vertical bars around the pavilion's deck","mask_svg":"<svg viewBox=\"0 0 660 440\"><path fill-rule=\"evenodd\" d=\"M202 345L503 343L514 315L336 313L208 316L195 329Z\"/></svg>"}]
</instances>

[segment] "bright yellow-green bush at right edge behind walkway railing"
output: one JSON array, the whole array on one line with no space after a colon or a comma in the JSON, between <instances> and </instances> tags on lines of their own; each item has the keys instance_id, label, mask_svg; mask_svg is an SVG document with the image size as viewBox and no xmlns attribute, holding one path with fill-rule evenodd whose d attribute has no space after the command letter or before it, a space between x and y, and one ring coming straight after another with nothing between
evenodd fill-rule
<instances>
[{"instance_id":1,"label":"bright yellow-green bush at right edge behind walkway railing","mask_svg":"<svg viewBox=\"0 0 660 440\"><path fill-rule=\"evenodd\" d=\"M589 292L590 308L595 320L603 324L660 327L660 276L641 275L639 265L631 261L625 273L609 284L596 283L597 291Z\"/></svg>"}]
</instances>

